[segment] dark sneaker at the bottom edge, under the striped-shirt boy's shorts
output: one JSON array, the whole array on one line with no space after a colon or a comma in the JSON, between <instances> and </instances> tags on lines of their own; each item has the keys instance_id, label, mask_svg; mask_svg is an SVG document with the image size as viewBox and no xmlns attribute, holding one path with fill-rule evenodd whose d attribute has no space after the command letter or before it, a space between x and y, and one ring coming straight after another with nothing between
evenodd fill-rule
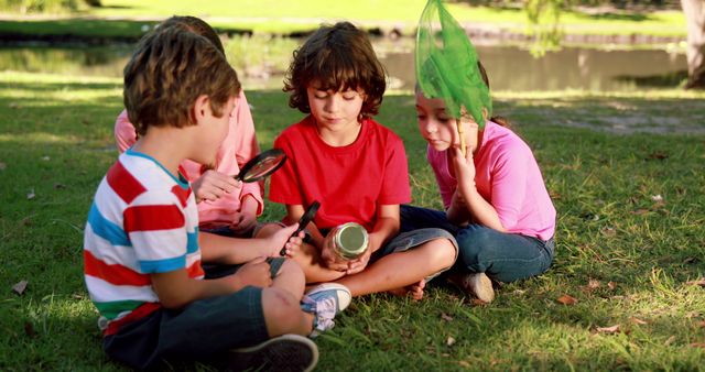
<instances>
[{"instance_id":1,"label":"dark sneaker at the bottom edge, under the striped-shirt boy's shorts","mask_svg":"<svg viewBox=\"0 0 705 372\"><path fill-rule=\"evenodd\" d=\"M232 349L227 355L229 371L312 371L318 348L299 335L282 335L250 348Z\"/></svg>"}]
</instances>

